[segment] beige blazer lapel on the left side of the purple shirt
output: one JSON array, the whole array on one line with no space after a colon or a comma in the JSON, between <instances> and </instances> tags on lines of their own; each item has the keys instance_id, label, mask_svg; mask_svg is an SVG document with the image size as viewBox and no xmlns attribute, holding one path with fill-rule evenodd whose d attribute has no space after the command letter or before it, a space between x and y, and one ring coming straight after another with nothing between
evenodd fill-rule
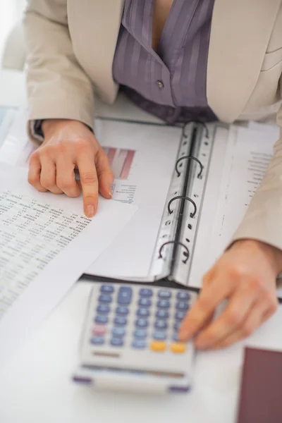
<instances>
[{"instance_id":1,"label":"beige blazer lapel on the left side of the purple shirt","mask_svg":"<svg viewBox=\"0 0 282 423\"><path fill-rule=\"evenodd\" d=\"M68 25L80 65L93 80L99 97L114 102L118 87L112 62L124 0L68 0Z\"/></svg>"}]
</instances>

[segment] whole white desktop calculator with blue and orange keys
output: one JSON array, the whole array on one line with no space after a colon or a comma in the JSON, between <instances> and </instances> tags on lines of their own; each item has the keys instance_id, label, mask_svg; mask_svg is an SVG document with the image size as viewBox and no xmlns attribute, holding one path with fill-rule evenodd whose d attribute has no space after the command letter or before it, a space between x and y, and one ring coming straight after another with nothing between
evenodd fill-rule
<instances>
[{"instance_id":1,"label":"whole white desktop calculator with blue and orange keys","mask_svg":"<svg viewBox=\"0 0 282 423\"><path fill-rule=\"evenodd\" d=\"M94 283L73 380L94 388L185 393L195 348L178 329L197 294L129 283Z\"/></svg>"}]
</instances>

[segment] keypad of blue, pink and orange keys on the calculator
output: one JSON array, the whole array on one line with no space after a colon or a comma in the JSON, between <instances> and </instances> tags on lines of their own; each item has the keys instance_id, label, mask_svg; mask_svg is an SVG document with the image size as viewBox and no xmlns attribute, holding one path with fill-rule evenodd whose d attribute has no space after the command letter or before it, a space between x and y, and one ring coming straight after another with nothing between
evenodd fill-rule
<instances>
[{"instance_id":1,"label":"keypad of blue, pink and orange keys on the calculator","mask_svg":"<svg viewBox=\"0 0 282 423\"><path fill-rule=\"evenodd\" d=\"M185 353L178 329L191 305L185 290L102 284L94 305L90 344L95 348Z\"/></svg>"}]
</instances>

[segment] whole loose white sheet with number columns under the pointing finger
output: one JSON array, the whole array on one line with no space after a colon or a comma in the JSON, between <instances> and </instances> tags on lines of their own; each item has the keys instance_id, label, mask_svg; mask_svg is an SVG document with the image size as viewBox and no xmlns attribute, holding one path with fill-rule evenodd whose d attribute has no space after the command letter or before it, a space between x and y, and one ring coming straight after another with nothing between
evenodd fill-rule
<instances>
[{"instance_id":1,"label":"whole loose white sheet with number columns under the pointing finger","mask_svg":"<svg viewBox=\"0 0 282 423\"><path fill-rule=\"evenodd\" d=\"M131 219L137 207L37 192L26 168L0 167L0 367Z\"/></svg>"}]
</instances>

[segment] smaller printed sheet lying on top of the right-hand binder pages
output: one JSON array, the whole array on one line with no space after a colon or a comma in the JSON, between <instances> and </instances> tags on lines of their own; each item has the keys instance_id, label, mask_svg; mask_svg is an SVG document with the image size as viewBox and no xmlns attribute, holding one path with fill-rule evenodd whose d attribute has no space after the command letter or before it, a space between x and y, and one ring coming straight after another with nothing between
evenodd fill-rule
<instances>
[{"instance_id":1,"label":"smaller printed sheet lying on top of the right-hand binder pages","mask_svg":"<svg viewBox=\"0 0 282 423\"><path fill-rule=\"evenodd\" d=\"M228 143L221 179L221 194L216 212L214 235L216 258L230 242L242 221L253 195L273 156L278 128L269 131L238 128Z\"/></svg>"}]
</instances>

